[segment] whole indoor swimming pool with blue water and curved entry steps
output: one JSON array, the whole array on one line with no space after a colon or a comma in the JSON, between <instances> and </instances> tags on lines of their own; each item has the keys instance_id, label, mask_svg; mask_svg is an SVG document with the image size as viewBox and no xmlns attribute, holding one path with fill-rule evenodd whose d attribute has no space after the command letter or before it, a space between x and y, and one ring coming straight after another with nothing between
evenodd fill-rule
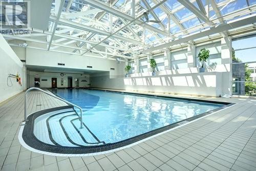
<instances>
[{"instance_id":1,"label":"whole indoor swimming pool with blue water and curved entry steps","mask_svg":"<svg viewBox=\"0 0 256 171\"><path fill-rule=\"evenodd\" d=\"M50 145L57 148L56 153L91 153L125 146L220 110L226 105L213 101L100 90L51 91L82 108L82 129L78 111L73 106L62 106L29 116L23 135L30 134L31 131L26 132L28 126L28 130L33 130L36 144L40 146L38 148L42 143L47 147L42 151L47 151ZM79 150L74 152L72 148Z\"/></svg>"}]
</instances>

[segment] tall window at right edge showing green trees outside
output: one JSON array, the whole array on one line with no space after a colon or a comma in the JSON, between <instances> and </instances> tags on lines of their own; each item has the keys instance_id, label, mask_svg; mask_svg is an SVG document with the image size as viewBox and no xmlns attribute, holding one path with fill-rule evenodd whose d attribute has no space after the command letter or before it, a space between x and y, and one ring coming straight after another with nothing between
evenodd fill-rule
<instances>
[{"instance_id":1,"label":"tall window at right edge showing green trees outside","mask_svg":"<svg viewBox=\"0 0 256 171\"><path fill-rule=\"evenodd\" d=\"M256 96L256 35L232 40L232 93Z\"/></svg>"}]
</instances>

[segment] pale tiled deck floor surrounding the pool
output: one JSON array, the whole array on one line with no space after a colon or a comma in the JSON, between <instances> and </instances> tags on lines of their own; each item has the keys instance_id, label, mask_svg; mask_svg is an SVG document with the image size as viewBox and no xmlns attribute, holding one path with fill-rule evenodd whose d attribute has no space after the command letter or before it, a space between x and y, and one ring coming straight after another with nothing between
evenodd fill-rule
<instances>
[{"instance_id":1,"label":"pale tiled deck floor surrounding the pool","mask_svg":"<svg viewBox=\"0 0 256 171\"><path fill-rule=\"evenodd\" d=\"M194 98L237 104L118 152L91 157L55 157L30 152L18 142L19 125L24 117L24 93L20 93L0 103L0 168L256 170L256 99ZM28 102L30 113L64 104L37 91L31 92Z\"/></svg>"}]
</instances>

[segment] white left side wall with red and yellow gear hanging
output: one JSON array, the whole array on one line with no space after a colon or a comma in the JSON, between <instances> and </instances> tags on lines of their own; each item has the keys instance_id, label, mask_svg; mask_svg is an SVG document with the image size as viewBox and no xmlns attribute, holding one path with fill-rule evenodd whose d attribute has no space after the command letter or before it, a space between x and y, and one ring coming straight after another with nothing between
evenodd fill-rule
<instances>
[{"instance_id":1,"label":"white left side wall with red and yellow gear hanging","mask_svg":"<svg viewBox=\"0 0 256 171\"><path fill-rule=\"evenodd\" d=\"M0 34L0 71L0 102L2 102L22 92L26 87L26 69L2 34ZM16 78L8 77L8 74L17 73L22 78L22 86L16 82Z\"/></svg>"}]
</instances>

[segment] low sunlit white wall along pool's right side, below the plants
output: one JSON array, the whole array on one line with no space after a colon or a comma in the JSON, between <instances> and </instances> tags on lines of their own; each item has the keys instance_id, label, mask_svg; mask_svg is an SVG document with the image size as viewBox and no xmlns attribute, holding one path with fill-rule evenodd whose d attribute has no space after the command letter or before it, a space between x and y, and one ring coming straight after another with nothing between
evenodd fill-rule
<instances>
[{"instance_id":1,"label":"low sunlit white wall along pool's right side, below the plants","mask_svg":"<svg viewBox=\"0 0 256 171\"><path fill-rule=\"evenodd\" d=\"M113 79L108 73L93 74L90 75L91 87L204 96L219 96L223 92L221 72L198 73L197 68L164 72L158 76L140 73Z\"/></svg>"}]
</instances>

